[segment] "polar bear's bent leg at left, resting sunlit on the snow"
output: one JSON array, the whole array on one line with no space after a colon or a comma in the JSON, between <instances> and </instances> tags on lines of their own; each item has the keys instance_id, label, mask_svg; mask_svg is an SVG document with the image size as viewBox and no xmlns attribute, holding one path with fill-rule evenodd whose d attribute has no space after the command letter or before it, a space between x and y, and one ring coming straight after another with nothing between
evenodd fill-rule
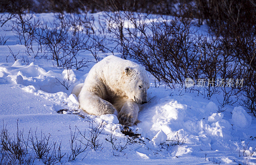
<instances>
[{"instance_id":1,"label":"polar bear's bent leg at left, resting sunlit on the snow","mask_svg":"<svg viewBox=\"0 0 256 165\"><path fill-rule=\"evenodd\" d=\"M78 97L80 108L92 115L113 114L114 106L92 92L82 92Z\"/></svg>"}]
</instances>

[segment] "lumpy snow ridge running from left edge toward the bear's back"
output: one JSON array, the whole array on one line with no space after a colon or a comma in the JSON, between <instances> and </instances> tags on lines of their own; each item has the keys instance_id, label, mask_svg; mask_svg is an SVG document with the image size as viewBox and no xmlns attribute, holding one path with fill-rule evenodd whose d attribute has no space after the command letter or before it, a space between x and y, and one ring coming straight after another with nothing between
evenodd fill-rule
<instances>
[{"instance_id":1,"label":"lumpy snow ridge running from left edge toward the bear's back","mask_svg":"<svg viewBox=\"0 0 256 165\"><path fill-rule=\"evenodd\" d=\"M22 65L20 60L15 61L11 67L0 65L0 78L0 83L33 85L36 89L48 93L67 91L60 84L65 79L66 83L68 83L68 80L72 84L77 81L73 70L64 70L62 73L56 73L51 68L35 65L34 62L31 62L29 65Z\"/></svg>"}]
</instances>

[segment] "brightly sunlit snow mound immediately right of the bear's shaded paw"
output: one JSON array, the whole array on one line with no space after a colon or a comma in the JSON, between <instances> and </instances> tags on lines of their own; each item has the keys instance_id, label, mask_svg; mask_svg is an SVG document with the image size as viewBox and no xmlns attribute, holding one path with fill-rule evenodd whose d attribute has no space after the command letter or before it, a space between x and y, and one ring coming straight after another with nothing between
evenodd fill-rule
<instances>
[{"instance_id":1,"label":"brightly sunlit snow mound immediately right of the bear's shaded paw","mask_svg":"<svg viewBox=\"0 0 256 165\"><path fill-rule=\"evenodd\" d=\"M139 112L139 120L142 121L138 127L143 129L150 139L162 130L165 134L175 133L182 128L187 105L180 104L170 98L151 100L151 104Z\"/></svg>"}]
</instances>

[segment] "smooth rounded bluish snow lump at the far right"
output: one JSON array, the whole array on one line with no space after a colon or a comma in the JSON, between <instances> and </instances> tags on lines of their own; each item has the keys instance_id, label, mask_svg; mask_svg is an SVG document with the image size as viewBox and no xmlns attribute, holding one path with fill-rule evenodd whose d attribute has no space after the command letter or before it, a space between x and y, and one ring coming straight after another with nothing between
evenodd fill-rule
<instances>
[{"instance_id":1,"label":"smooth rounded bluish snow lump at the far right","mask_svg":"<svg viewBox=\"0 0 256 165\"><path fill-rule=\"evenodd\" d=\"M248 128L252 123L252 117L243 107L235 107L232 111L232 123L239 128Z\"/></svg>"}]
</instances>

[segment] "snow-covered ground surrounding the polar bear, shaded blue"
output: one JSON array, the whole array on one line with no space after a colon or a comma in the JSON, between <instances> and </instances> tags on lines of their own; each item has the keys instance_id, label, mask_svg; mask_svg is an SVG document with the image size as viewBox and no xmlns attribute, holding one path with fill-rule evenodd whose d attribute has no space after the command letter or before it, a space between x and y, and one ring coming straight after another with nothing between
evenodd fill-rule
<instances>
[{"instance_id":1,"label":"snow-covered ground surrounding the polar bear, shaded blue","mask_svg":"<svg viewBox=\"0 0 256 165\"><path fill-rule=\"evenodd\" d=\"M96 13L95 18L99 15ZM52 13L38 16L53 20ZM66 90L58 80L67 78L67 70L54 68L51 60L40 56L35 59L27 56L8 24L0 28L0 35L9 38L6 45L0 46L0 120L7 124L11 134L16 132L19 120L24 136L30 129L33 133L42 130L51 134L50 141L61 142L62 152L70 155L69 126L73 132L75 127L81 132L86 130L88 138L92 121L94 127L103 122L99 135L102 145L96 151L87 147L75 161L68 161L67 155L64 156L66 164L256 164L256 139L252 140L256 136L256 118L251 113L236 104L216 113L217 99L223 99L222 94L208 99L198 92L155 86L155 79L149 73L150 101L139 112L141 123L129 128L140 135L121 152L113 149L106 140L111 130L116 143L124 146L128 135L122 132L127 128L118 124L115 115L86 114L78 108L76 96L70 94L76 84L84 81L94 63L84 70L72 70L71 86ZM10 55L7 45L14 54L20 52L17 61L9 56L6 62L6 56ZM88 54L80 56L94 61ZM28 65L22 62L22 55L28 58ZM100 54L101 59L105 56ZM57 113L63 109L63 114ZM180 145L172 145L177 140ZM35 164L43 162L36 159Z\"/></svg>"}]
</instances>

